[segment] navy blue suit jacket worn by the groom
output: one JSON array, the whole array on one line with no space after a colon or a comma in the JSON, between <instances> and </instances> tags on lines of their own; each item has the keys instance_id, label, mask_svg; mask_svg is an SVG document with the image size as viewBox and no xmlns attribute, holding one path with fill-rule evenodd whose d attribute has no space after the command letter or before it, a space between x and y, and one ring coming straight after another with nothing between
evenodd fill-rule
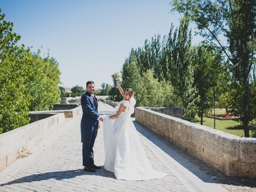
<instances>
[{"instance_id":1,"label":"navy blue suit jacket worn by the groom","mask_svg":"<svg viewBox=\"0 0 256 192\"><path fill-rule=\"evenodd\" d=\"M88 92L81 97L81 106L83 110L82 120L81 120L81 142L90 139L92 131L98 128L97 120L100 115L98 114L98 106L95 104L94 98Z\"/></svg>"}]
</instances>

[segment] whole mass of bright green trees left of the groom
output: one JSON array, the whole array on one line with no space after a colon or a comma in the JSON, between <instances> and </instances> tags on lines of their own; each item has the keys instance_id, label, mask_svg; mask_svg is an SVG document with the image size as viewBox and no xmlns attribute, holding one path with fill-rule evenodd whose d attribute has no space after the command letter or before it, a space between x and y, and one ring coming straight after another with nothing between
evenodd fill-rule
<instances>
[{"instance_id":1,"label":"whole mass of bright green trees left of the groom","mask_svg":"<svg viewBox=\"0 0 256 192\"><path fill-rule=\"evenodd\" d=\"M29 123L29 110L44 110L58 102L60 81L54 58L41 58L16 43L13 23L0 9L0 133Z\"/></svg>"}]
</instances>

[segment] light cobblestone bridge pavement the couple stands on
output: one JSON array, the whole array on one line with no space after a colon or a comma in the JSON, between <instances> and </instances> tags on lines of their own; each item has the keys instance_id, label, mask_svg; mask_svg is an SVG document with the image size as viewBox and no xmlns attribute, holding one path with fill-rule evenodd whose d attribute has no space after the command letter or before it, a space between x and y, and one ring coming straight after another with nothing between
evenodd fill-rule
<instances>
[{"instance_id":1,"label":"light cobblestone bridge pavement the couple stands on","mask_svg":"<svg viewBox=\"0 0 256 192\"><path fill-rule=\"evenodd\" d=\"M99 103L101 114L114 113L114 109L106 104ZM99 192L188 192L203 191L197 187L190 188L193 184L184 180L183 176L175 174L166 166L162 157L156 152L156 148L150 147L146 137L140 134L142 144L146 155L153 168L162 172L168 172L168 176L156 180L147 181L125 181L116 180L112 172L97 170L95 173L85 172L82 168L82 143L80 143L80 119L81 116L72 118L68 122L68 128L61 130L56 138L43 150L38 152L32 160L22 164L19 169L12 171L7 175L4 182L0 181L0 191L2 192L78 192L78 191L99 191ZM136 128L140 125L134 122ZM61 129L61 128L60 128ZM217 176L214 179L229 191L253 191L256 188L247 178L237 179L229 178L220 174L214 168L211 168L196 159L194 156L186 153L166 139L157 136L149 131L155 137L155 140L161 140L176 151L182 158L188 160L196 167L209 176ZM30 155L30 156L33 156ZM102 127L98 130L98 135L94 145L95 164L103 166L104 164L104 145ZM27 157L29 158L29 156ZM17 160L18 161L18 160ZM12 166L12 165L10 165ZM223 179L222 179L223 177ZM215 178L215 177L214 177ZM231 182L230 182L231 181ZM252 182L253 183L253 182ZM220 184L216 184L220 186ZM243 186L239 186L239 185ZM254 183L255 184L255 181ZM207 185L207 184L206 184ZM254 187L254 188L251 188ZM209 191L209 190L205 190ZM211 190L215 191L215 190ZM223 191L223 190L222 190Z\"/></svg>"}]
</instances>

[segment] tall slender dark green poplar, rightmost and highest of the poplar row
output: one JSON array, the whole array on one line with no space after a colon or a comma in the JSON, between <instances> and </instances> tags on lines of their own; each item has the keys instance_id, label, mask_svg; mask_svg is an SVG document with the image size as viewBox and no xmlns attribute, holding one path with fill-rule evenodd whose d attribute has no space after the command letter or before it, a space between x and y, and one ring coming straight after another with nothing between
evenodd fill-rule
<instances>
[{"instance_id":1,"label":"tall slender dark green poplar, rightmost and highest of the poplar row","mask_svg":"<svg viewBox=\"0 0 256 192\"><path fill-rule=\"evenodd\" d=\"M191 49L191 30L185 18L180 21L180 27L175 30L172 38L172 28L168 35L167 48L168 69L170 82L174 86L174 93L178 96L178 106L183 108L183 118L195 121L196 88L194 82L194 68L192 66L193 52Z\"/></svg>"}]
</instances>

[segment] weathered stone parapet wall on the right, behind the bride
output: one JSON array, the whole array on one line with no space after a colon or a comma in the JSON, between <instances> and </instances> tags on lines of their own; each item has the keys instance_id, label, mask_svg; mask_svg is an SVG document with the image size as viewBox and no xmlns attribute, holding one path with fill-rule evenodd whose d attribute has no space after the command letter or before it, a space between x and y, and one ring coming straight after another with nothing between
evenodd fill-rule
<instances>
[{"instance_id":1,"label":"weathered stone parapet wall on the right, behind the bride","mask_svg":"<svg viewBox=\"0 0 256 192\"><path fill-rule=\"evenodd\" d=\"M136 121L228 176L256 177L256 138L240 138L143 107L136 108Z\"/></svg>"}]
</instances>

